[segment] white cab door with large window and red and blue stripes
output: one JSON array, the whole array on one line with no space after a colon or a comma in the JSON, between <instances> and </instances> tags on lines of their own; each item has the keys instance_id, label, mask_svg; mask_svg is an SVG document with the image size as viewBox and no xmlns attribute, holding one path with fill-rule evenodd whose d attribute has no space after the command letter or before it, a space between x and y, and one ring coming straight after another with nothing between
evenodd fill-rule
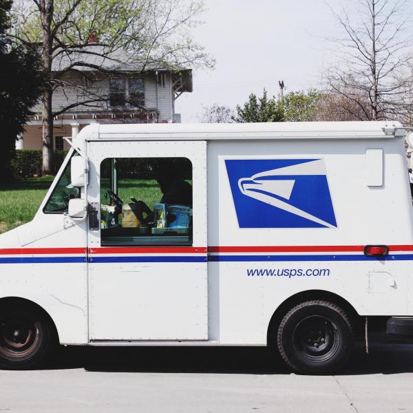
<instances>
[{"instance_id":1,"label":"white cab door with large window and red and blue stripes","mask_svg":"<svg viewBox=\"0 0 413 413\"><path fill-rule=\"evenodd\" d=\"M208 339L206 150L91 142L90 340Z\"/></svg>"}]
</instances>

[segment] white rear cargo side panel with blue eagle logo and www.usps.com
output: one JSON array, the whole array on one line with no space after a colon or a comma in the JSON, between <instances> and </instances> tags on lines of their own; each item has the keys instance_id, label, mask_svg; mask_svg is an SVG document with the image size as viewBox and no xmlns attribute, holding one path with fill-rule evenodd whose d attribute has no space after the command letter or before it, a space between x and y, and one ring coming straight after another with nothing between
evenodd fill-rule
<instances>
[{"instance_id":1,"label":"white rear cargo side panel with blue eagle logo and www.usps.com","mask_svg":"<svg viewBox=\"0 0 413 413\"><path fill-rule=\"evenodd\" d=\"M335 293L359 315L413 314L403 140L213 141L208 149L211 338L265 343L276 308L304 290ZM383 162L377 151L371 162L370 149L383 149ZM369 244L390 246L388 257L366 257Z\"/></svg>"}]
</instances>

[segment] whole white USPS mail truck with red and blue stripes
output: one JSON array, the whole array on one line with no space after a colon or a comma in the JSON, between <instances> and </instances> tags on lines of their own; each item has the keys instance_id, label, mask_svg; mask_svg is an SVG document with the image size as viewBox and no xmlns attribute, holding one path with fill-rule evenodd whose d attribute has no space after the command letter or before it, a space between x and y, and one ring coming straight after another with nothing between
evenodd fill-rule
<instances>
[{"instance_id":1,"label":"whole white USPS mail truck with red and blue stripes","mask_svg":"<svg viewBox=\"0 0 413 413\"><path fill-rule=\"evenodd\" d=\"M412 332L399 123L89 125L34 220L0 236L0 363L54 343L273 346L337 370Z\"/></svg>"}]
</instances>

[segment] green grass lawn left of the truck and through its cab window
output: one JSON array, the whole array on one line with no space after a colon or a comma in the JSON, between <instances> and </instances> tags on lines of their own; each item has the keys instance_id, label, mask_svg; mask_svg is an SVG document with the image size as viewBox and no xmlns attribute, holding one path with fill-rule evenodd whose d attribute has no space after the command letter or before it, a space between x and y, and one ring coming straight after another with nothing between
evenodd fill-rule
<instances>
[{"instance_id":1,"label":"green grass lawn left of the truck and through its cab window","mask_svg":"<svg viewBox=\"0 0 413 413\"><path fill-rule=\"evenodd\" d=\"M33 219L53 179L53 177L46 176L0 186L0 233ZM109 184L102 182L101 201L103 203L106 203L104 194L107 188ZM149 208L153 207L153 202L159 202L162 198L162 192L156 180L120 179L118 195L123 202L127 203L131 202L130 198L142 200Z\"/></svg>"}]
</instances>

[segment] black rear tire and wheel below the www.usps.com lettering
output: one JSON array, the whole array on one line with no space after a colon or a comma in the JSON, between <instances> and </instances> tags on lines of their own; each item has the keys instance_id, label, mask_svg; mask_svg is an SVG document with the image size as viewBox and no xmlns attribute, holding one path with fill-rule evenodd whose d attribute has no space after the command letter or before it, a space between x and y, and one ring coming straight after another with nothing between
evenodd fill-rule
<instances>
[{"instance_id":1,"label":"black rear tire and wheel below the www.usps.com lettering","mask_svg":"<svg viewBox=\"0 0 413 413\"><path fill-rule=\"evenodd\" d=\"M321 300L306 301L282 319L277 345L284 361L296 372L337 372L352 352L352 324L339 306Z\"/></svg>"}]
</instances>

